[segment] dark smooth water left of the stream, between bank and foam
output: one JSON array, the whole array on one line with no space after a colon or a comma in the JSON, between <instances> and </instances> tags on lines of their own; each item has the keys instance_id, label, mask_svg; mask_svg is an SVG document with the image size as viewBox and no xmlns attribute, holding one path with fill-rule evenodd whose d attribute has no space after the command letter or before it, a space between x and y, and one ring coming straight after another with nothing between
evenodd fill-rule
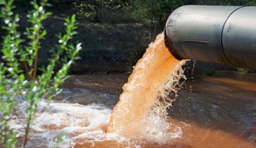
<instances>
[{"instance_id":1,"label":"dark smooth water left of the stream, between bank and foam","mask_svg":"<svg viewBox=\"0 0 256 148\"><path fill-rule=\"evenodd\" d=\"M72 75L64 83L62 94L53 98L62 103L104 104L113 108L122 93L127 74Z\"/></svg>"}]
</instances>

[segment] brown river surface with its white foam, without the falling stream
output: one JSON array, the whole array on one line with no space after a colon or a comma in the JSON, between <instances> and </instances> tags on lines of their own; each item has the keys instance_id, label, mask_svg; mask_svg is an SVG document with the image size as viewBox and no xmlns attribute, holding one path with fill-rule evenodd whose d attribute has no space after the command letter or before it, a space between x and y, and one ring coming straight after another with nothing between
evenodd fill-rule
<instances>
[{"instance_id":1,"label":"brown river surface with its white foam, without the falling stream","mask_svg":"<svg viewBox=\"0 0 256 148\"><path fill-rule=\"evenodd\" d=\"M27 147L53 147L58 134L66 134L61 147L256 147L255 74L221 72L186 81L168 109L177 137L153 144L104 132L127 77L72 76L55 101L40 103ZM23 131L22 118L11 123Z\"/></svg>"}]
</instances>

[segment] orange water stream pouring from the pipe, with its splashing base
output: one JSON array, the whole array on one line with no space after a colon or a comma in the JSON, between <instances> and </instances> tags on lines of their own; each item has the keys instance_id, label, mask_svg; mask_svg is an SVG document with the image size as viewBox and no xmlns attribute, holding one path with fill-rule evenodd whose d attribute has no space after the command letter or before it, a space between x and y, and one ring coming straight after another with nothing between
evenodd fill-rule
<instances>
[{"instance_id":1,"label":"orange water stream pouring from the pipe, with its splashing base","mask_svg":"<svg viewBox=\"0 0 256 148\"><path fill-rule=\"evenodd\" d=\"M165 47L164 34L158 34L123 86L108 132L161 143L179 137L181 129L166 122L165 111L174 99L167 96L175 96L179 79L185 78L184 63L174 59Z\"/></svg>"}]
</instances>

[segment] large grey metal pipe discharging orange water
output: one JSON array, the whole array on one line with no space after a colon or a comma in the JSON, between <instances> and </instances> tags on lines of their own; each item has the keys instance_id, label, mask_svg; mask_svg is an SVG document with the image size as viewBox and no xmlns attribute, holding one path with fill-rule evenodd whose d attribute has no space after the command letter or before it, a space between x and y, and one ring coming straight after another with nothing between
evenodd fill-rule
<instances>
[{"instance_id":1,"label":"large grey metal pipe discharging orange water","mask_svg":"<svg viewBox=\"0 0 256 148\"><path fill-rule=\"evenodd\" d=\"M176 59L256 70L256 7L182 6L165 26Z\"/></svg>"}]
</instances>

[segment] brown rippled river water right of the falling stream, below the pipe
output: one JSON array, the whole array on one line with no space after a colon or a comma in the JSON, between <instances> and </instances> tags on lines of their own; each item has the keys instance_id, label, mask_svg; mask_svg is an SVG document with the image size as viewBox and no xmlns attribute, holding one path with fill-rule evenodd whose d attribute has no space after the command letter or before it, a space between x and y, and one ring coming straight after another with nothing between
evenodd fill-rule
<instances>
[{"instance_id":1,"label":"brown rippled river water right of the falling stream, below the pipe","mask_svg":"<svg viewBox=\"0 0 256 148\"><path fill-rule=\"evenodd\" d=\"M256 147L256 75L190 80L168 113L171 123L184 123L183 136L194 147Z\"/></svg>"}]
</instances>

